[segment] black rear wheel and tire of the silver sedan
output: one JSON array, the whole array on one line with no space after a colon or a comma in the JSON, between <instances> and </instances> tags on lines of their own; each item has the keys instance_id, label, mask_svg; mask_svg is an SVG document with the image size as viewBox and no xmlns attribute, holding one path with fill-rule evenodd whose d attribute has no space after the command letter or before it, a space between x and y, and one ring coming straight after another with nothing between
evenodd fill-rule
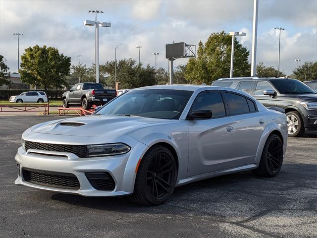
<instances>
[{"instance_id":1,"label":"black rear wheel and tire of the silver sedan","mask_svg":"<svg viewBox=\"0 0 317 238\"><path fill-rule=\"evenodd\" d=\"M280 172L282 164L282 141L278 135L271 134L265 142L259 167L252 172L261 177L274 177Z\"/></svg>"}]
</instances>

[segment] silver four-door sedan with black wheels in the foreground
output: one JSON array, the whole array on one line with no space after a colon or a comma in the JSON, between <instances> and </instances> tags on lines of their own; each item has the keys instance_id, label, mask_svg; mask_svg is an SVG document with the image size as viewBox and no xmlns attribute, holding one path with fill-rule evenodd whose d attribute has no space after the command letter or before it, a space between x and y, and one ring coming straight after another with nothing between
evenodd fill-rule
<instances>
[{"instance_id":1,"label":"silver four-door sedan with black wheels in the foreground","mask_svg":"<svg viewBox=\"0 0 317 238\"><path fill-rule=\"evenodd\" d=\"M159 205L175 186L252 170L276 176L285 114L230 88L158 85L130 90L92 116L27 129L15 184Z\"/></svg>"}]
</instances>

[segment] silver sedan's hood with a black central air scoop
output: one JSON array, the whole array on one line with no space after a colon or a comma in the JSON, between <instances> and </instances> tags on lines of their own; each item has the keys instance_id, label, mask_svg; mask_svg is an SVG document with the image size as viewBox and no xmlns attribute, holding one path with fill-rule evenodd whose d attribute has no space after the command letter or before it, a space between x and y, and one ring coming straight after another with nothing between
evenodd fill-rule
<instances>
[{"instance_id":1,"label":"silver sedan's hood with a black central air scoop","mask_svg":"<svg viewBox=\"0 0 317 238\"><path fill-rule=\"evenodd\" d=\"M92 115L48 121L32 126L31 130L54 135L116 138L140 128L176 122L169 119Z\"/></svg>"}]
</instances>

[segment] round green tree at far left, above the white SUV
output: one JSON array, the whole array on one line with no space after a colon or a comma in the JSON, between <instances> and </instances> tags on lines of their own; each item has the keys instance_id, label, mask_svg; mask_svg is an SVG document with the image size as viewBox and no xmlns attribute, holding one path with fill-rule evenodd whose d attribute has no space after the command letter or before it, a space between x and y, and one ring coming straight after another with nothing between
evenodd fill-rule
<instances>
[{"instance_id":1,"label":"round green tree at far left, above the white SUV","mask_svg":"<svg viewBox=\"0 0 317 238\"><path fill-rule=\"evenodd\" d=\"M70 57L58 53L53 47L25 49L21 56L21 81L44 88L48 94L49 88L68 86L65 77L69 74Z\"/></svg>"}]
</instances>

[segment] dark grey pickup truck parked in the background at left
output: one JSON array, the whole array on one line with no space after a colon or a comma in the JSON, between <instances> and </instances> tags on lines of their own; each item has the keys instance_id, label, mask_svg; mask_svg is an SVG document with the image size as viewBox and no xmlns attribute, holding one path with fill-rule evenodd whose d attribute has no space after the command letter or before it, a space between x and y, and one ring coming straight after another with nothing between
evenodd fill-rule
<instances>
[{"instance_id":1,"label":"dark grey pickup truck parked in the background at left","mask_svg":"<svg viewBox=\"0 0 317 238\"><path fill-rule=\"evenodd\" d=\"M104 89L101 83L77 83L62 95L63 107L70 105L82 105L84 109L90 109L92 105L104 105L113 98L114 89Z\"/></svg>"}]
</instances>

